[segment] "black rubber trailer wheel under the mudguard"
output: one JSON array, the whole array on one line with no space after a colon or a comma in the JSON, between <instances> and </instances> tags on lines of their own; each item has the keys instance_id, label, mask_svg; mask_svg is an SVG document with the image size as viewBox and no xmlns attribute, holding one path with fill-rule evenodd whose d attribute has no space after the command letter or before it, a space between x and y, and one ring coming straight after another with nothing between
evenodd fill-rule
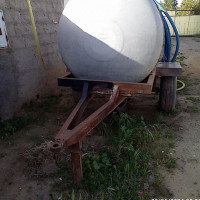
<instances>
[{"instance_id":1,"label":"black rubber trailer wheel under the mudguard","mask_svg":"<svg viewBox=\"0 0 200 200\"><path fill-rule=\"evenodd\" d=\"M162 76L160 82L159 108L171 112L176 104L177 77Z\"/></svg>"}]
</instances>

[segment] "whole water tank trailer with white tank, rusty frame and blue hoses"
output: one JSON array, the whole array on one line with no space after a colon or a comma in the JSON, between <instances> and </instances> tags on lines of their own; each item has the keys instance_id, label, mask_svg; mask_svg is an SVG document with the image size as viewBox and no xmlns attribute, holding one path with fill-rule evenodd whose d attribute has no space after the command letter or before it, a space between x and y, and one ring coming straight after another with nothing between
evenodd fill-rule
<instances>
[{"instance_id":1,"label":"whole water tank trailer with white tank, rusty frame and blue hoses","mask_svg":"<svg viewBox=\"0 0 200 200\"><path fill-rule=\"evenodd\" d=\"M173 55L168 24L176 34ZM174 109L176 77L181 75L180 64L174 62L179 36L156 0L69 0L60 19L58 41L71 72L59 78L58 85L82 91L82 97L51 149L69 147L74 182L80 183L81 139L126 98L151 94L155 77L161 76L160 109ZM99 93L110 95L110 100L79 123L89 99Z\"/></svg>"}]
</instances>

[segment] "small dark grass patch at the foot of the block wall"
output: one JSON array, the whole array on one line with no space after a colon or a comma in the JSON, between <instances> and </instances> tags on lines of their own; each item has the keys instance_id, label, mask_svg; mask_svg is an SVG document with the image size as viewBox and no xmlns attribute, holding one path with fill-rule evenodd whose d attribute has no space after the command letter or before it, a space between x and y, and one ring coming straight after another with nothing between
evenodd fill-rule
<instances>
[{"instance_id":1,"label":"small dark grass patch at the foot of the block wall","mask_svg":"<svg viewBox=\"0 0 200 200\"><path fill-rule=\"evenodd\" d=\"M0 139L8 138L32 123L31 118L14 118L0 124Z\"/></svg>"}]
</instances>

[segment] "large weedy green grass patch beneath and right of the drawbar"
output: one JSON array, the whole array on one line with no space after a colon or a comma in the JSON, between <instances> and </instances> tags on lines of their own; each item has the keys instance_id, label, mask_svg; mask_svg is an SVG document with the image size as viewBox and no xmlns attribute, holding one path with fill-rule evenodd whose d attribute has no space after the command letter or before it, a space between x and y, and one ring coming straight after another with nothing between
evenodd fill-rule
<instances>
[{"instance_id":1,"label":"large weedy green grass patch beneath and right of the drawbar","mask_svg":"<svg viewBox=\"0 0 200 200\"><path fill-rule=\"evenodd\" d=\"M108 145L83 157L81 185L73 185L71 165L60 163L55 176L62 177L62 181L57 181L52 190L62 194L63 199L79 199L80 193L87 200L150 199L154 186L162 184L158 165L171 169L176 163L169 156L168 143L159 142L161 118L158 115L155 123L148 124L143 117L113 114L103 122ZM172 135L168 133L169 137ZM69 190L64 194L66 188Z\"/></svg>"}]
</instances>

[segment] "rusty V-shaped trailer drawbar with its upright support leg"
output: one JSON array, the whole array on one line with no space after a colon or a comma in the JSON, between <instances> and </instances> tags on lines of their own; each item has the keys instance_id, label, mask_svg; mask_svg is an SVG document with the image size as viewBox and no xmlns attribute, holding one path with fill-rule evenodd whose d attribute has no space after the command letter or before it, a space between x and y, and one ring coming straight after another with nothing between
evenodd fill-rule
<instances>
[{"instance_id":1,"label":"rusty V-shaped trailer drawbar with its upright support leg","mask_svg":"<svg viewBox=\"0 0 200 200\"><path fill-rule=\"evenodd\" d=\"M69 147L73 168L73 182L75 184L80 184L83 178L80 146L81 139L106 118L121 102L124 101L124 99L126 99L126 97L119 96L119 86L114 86L110 100L76 126L78 119L80 119L80 113L85 109L84 102L86 102L87 99L87 89L88 85L84 85L81 100L56 136L55 143L51 146L51 150L54 152L60 151L63 146Z\"/></svg>"}]
</instances>

